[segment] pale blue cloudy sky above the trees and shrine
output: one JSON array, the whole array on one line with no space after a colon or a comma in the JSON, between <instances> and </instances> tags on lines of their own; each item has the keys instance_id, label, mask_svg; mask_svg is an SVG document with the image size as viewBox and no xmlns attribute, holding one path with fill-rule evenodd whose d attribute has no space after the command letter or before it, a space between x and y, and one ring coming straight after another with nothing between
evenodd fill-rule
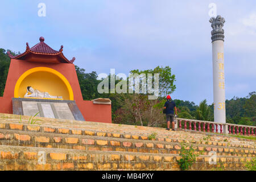
<instances>
[{"instance_id":1,"label":"pale blue cloudy sky above the trees and shrine","mask_svg":"<svg viewBox=\"0 0 256 182\"><path fill-rule=\"evenodd\" d=\"M226 99L256 91L256 1L1 1L0 48L24 52L44 36L86 72L170 66L172 98L213 102L209 3L224 16ZM46 16L38 16L38 4Z\"/></svg>"}]
</instances>

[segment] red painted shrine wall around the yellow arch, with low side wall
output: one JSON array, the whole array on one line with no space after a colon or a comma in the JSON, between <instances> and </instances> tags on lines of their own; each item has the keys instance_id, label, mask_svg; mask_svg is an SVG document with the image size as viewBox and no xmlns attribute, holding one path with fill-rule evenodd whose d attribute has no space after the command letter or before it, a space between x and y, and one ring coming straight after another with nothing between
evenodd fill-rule
<instances>
[{"instance_id":1,"label":"red painted shrine wall around the yellow arch, with low side wall","mask_svg":"<svg viewBox=\"0 0 256 182\"><path fill-rule=\"evenodd\" d=\"M50 59L50 58L49 58ZM76 69L74 64L60 63L38 63L26 60L12 59L9 73L7 76L5 92L3 97L0 97L0 113L13 113L13 106L11 99L14 97L15 84L19 77L28 69L35 67L48 67L55 69L67 78L74 93L74 100L79 107L85 121L95 122L112 122L111 105L93 104L92 101L84 101L82 99L82 93L79 85L79 81L76 75Z\"/></svg>"}]
</instances>

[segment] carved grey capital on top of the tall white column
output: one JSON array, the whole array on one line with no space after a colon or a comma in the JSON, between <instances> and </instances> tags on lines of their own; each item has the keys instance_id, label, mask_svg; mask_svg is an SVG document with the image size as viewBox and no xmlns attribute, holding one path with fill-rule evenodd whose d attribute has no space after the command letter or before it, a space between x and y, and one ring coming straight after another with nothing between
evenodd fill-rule
<instances>
[{"instance_id":1,"label":"carved grey capital on top of the tall white column","mask_svg":"<svg viewBox=\"0 0 256 182\"><path fill-rule=\"evenodd\" d=\"M212 42L215 40L223 40L224 41L224 30L222 27L224 26L225 19L221 17L221 15L217 15L216 18L212 17L209 20L212 26Z\"/></svg>"}]
</instances>

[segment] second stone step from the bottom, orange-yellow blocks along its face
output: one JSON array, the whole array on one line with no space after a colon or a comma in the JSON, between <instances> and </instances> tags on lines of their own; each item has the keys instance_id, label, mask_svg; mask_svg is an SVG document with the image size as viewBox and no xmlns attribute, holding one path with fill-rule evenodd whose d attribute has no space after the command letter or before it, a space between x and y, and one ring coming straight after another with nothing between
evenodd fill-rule
<instances>
[{"instance_id":1,"label":"second stone step from the bottom, orange-yellow blocks along its face","mask_svg":"<svg viewBox=\"0 0 256 182\"><path fill-rule=\"evenodd\" d=\"M139 140L89 135L69 135L0 129L0 144L7 146L31 146L69 148L75 150L129 151L159 154L179 154L181 142L176 140ZM215 145L214 145L215 144ZM197 144L197 154L207 155L216 151L218 155L255 156L254 148L223 146L223 143ZM221 144L221 146L217 146Z\"/></svg>"}]
</instances>

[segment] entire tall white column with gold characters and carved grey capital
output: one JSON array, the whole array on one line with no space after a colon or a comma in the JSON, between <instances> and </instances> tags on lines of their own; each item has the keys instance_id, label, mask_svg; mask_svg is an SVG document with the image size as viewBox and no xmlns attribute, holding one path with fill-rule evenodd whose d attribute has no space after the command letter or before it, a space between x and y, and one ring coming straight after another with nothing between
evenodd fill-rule
<instances>
[{"instance_id":1,"label":"entire tall white column with gold characters and carved grey capital","mask_svg":"<svg viewBox=\"0 0 256 182\"><path fill-rule=\"evenodd\" d=\"M224 26L225 19L218 15L211 18L212 23L212 64L214 122L226 123L225 76L224 76ZM220 129L218 129L220 132ZM225 130L224 130L225 132Z\"/></svg>"}]
</instances>

